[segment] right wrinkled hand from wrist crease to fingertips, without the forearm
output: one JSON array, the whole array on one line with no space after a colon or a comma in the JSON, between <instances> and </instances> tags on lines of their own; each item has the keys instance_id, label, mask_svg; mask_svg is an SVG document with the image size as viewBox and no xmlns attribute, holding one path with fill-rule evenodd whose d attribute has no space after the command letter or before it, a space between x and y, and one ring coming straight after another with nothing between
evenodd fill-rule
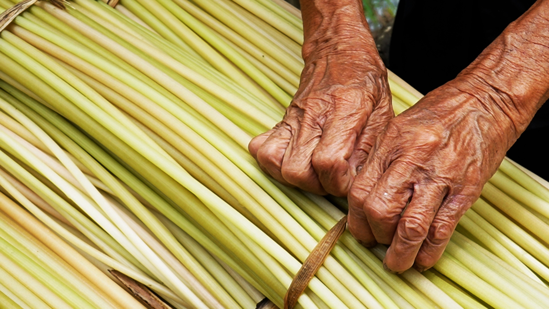
<instances>
[{"instance_id":1,"label":"right wrinkled hand from wrist crease to fingertips, without the forearm","mask_svg":"<svg viewBox=\"0 0 549 309\"><path fill-rule=\"evenodd\" d=\"M500 95L475 76L430 92L390 120L349 192L349 228L362 244L390 244L384 267L432 267L480 196L514 123Z\"/></svg>"}]
</instances>

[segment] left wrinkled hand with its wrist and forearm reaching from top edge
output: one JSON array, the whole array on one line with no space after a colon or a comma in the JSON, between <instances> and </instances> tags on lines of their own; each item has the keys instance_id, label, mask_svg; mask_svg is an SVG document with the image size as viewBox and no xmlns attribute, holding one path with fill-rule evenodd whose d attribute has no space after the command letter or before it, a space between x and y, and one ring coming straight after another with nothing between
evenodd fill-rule
<instances>
[{"instance_id":1,"label":"left wrinkled hand with its wrist and forearm reaching from top edge","mask_svg":"<svg viewBox=\"0 0 549 309\"><path fill-rule=\"evenodd\" d=\"M301 8L299 90L282 122L249 149L283 184L346 196L357 166L394 116L387 73L360 1L305 0Z\"/></svg>"}]
</instances>

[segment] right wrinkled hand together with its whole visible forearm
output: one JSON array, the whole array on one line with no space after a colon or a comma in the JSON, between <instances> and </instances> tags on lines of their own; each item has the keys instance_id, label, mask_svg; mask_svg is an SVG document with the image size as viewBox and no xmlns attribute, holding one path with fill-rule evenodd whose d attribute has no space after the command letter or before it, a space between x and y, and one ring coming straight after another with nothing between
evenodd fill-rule
<instances>
[{"instance_id":1,"label":"right wrinkled hand together with its whole visible forearm","mask_svg":"<svg viewBox=\"0 0 549 309\"><path fill-rule=\"evenodd\" d=\"M350 189L351 233L390 244L390 271L432 267L547 97L549 1L540 0L455 80L389 121Z\"/></svg>"}]
</instances>

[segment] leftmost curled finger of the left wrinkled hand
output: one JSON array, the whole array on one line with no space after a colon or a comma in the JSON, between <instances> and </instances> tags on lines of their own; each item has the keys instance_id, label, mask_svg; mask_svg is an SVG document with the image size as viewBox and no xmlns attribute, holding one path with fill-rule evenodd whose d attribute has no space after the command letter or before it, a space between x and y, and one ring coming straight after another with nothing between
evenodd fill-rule
<instances>
[{"instance_id":1,"label":"leftmost curled finger of the left wrinkled hand","mask_svg":"<svg viewBox=\"0 0 549 309\"><path fill-rule=\"evenodd\" d=\"M267 133L271 134L267 135ZM284 180L281 168L290 137L292 137L292 131L289 125L280 123L275 129L255 137L248 146L252 155L255 152L254 157L261 169L284 185L289 184Z\"/></svg>"}]
</instances>

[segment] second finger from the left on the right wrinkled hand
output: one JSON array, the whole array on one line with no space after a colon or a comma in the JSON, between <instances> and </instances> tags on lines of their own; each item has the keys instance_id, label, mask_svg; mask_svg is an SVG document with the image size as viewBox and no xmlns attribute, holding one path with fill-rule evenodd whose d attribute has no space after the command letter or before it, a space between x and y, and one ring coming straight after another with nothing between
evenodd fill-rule
<instances>
[{"instance_id":1,"label":"second finger from the left on the right wrinkled hand","mask_svg":"<svg viewBox=\"0 0 549 309\"><path fill-rule=\"evenodd\" d=\"M391 244L401 213L413 193L411 175L414 168L395 161L365 198L364 212L376 241Z\"/></svg>"}]
</instances>

